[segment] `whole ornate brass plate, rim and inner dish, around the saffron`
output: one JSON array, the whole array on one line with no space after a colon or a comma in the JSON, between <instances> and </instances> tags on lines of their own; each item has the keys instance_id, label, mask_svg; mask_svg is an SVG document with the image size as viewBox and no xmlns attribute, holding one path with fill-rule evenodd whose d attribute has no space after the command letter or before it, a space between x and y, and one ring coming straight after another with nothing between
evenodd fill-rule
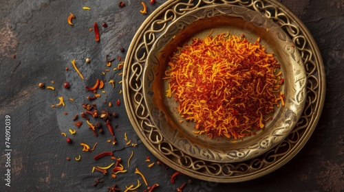
<instances>
[{"instance_id":1,"label":"whole ornate brass plate, rim and inner dish, around the saffron","mask_svg":"<svg viewBox=\"0 0 344 192\"><path fill-rule=\"evenodd\" d=\"M204 10L208 12L199 16L198 14ZM233 10L243 10L244 12ZM245 12L250 12L250 14L245 14ZM253 12L254 14L251 14ZM276 51L281 65L285 64L282 71L285 73L285 77L288 77L288 84L283 89L287 95L289 94L287 103L290 105L275 112L275 116L279 117L275 118L277 121L268 125L266 130L259 132L258 136L239 142L238 146L241 148L227 145L227 143L226 145L230 147L222 148L219 151L211 148L209 151L208 146L198 146L200 142L192 140L190 142L188 141L190 137L185 139L187 134L184 133L180 134L180 140L176 143L175 135L177 134L171 136L172 130L162 127L162 125L167 125L166 121L160 121L164 118L161 117L160 110L157 110L150 96L158 94L156 93L158 90L151 93L149 88L153 83L153 76L157 72L156 66L158 66L149 64L149 60L152 59L158 63L157 59L153 57L155 56L154 49L158 49L160 45L164 47L163 45L170 40L168 38L171 37L166 35L166 32L178 34L180 29L189 23L181 25L182 27L179 29L178 27L169 29L169 26L179 25L178 21L189 22L192 19L185 18L193 17L195 13L198 13L196 18L202 16L211 18L217 14L236 14L232 16L237 16L249 23L248 25L252 27L252 36L254 38L255 35L263 36L266 43L271 45L270 49ZM274 26L278 27L274 28ZM271 27L271 34L277 32L280 36L271 37L271 34L266 34L261 30L264 27ZM278 41L276 42L281 39L286 44L280 46ZM288 41L289 39L291 41ZM297 48L299 53L292 49L292 46ZM153 49L153 47L155 48ZM283 55L285 53L287 56ZM296 63L291 62L292 64L287 65L286 61L295 61ZM298 64L303 64L303 67L297 67ZM291 74L293 72L294 75ZM307 82L302 82L305 80L305 76ZM133 38L125 61L123 83L125 106L129 119L144 145L173 169L194 178L215 182L251 180L264 176L287 163L308 141L319 120L325 97L325 75L316 43L301 21L276 1L167 1L144 21ZM305 85L307 93L303 89ZM305 107L303 108L304 102ZM299 116L301 117L298 118ZM274 127L275 125L278 125L278 128L286 128L280 132L281 134L275 135L276 138L279 138L277 140L274 140L274 134L271 134L271 130L277 128ZM265 139L268 139L267 144L264 143ZM184 145L186 147L183 147ZM249 150L250 146L253 146L254 149ZM233 154L235 158L233 158ZM244 158L242 158L243 156Z\"/></svg>"}]
</instances>

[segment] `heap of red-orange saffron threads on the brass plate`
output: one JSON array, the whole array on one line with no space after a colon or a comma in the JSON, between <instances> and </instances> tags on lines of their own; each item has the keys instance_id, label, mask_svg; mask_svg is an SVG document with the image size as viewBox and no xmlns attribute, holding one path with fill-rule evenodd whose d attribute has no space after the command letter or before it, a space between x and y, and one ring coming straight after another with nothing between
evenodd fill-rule
<instances>
[{"instance_id":1,"label":"heap of red-orange saffron threads on the brass plate","mask_svg":"<svg viewBox=\"0 0 344 192\"><path fill-rule=\"evenodd\" d=\"M284 105L280 64L259 39L193 38L176 49L168 65L166 97L178 102L181 117L196 123L197 134L240 139L264 128L266 115Z\"/></svg>"}]
</instances>

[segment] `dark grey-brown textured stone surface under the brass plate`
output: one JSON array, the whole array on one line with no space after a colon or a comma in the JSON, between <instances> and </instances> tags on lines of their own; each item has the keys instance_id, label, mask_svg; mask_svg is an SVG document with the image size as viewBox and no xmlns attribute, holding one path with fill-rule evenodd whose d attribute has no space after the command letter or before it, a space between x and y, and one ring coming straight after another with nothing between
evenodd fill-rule
<instances>
[{"instance_id":1,"label":"dark grey-brown textured stone surface under the brass plate","mask_svg":"<svg viewBox=\"0 0 344 192\"><path fill-rule=\"evenodd\" d=\"M151 13L164 1L150 5ZM125 191L125 186L136 184L140 176L133 173L138 167L147 177L149 185L160 184L156 191L176 191L177 187L189 180L179 176L175 184L169 182L172 169L166 171L154 165L150 169L145 162L147 156L151 162L157 160L142 145L131 128L124 104L116 106L117 99L122 100L119 72L113 71L116 60L107 69L105 56L121 56L120 47L128 49L131 38L147 15L138 12L142 9L139 1L125 1L125 8L118 7L118 1L17 1L1 2L0 8L0 122L1 122L1 191L107 191L115 183ZM252 180L236 184L217 184L193 179L183 191L343 191L343 114L344 114L344 3L341 0L281 1L308 27L321 51L326 69L327 90L323 113L316 130L308 143L289 163L276 171ZM83 10L88 6L91 10ZM74 25L67 24L69 12L75 14ZM100 28L100 42L94 41L94 32L89 32L94 22ZM106 22L108 27L101 26ZM91 62L86 63L85 58ZM75 73L71 60L76 64L85 80ZM69 71L65 71L69 67ZM116 139L111 145L109 133L94 137L84 125L80 130L71 120L74 114L83 110L82 103L87 102L85 86L92 86L97 78L114 79L116 88L105 83L106 93L96 100L99 109L109 108L118 112L118 118L112 122L118 124ZM52 84L54 81L54 84ZM70 82L69 89L63 88L63 82ZM53 85L56 90L41 90L39 82ZM65 108L51 108L58 104L58 97L65 98ZM107 98L105 96L108 96ZM75 99L74 102L68 98ZM115 104L108 107L103 101ZM63 112L68 112L64 115ZM5 119L11 119L11 187L5 186ZM102 121L103 122L103 121ZM76 135L70 136L68 130L76 129ZM105 128L106 131L106 128ZM74 143L68 145L61 132L66 132ZM124 133L136 147L127 146ZM93 145L98 142L94 152L82 152L80 142ZM98 152L116 151L114 156L123 158L127 167L127 158L131 151L134 155L127 173L111 178L109 173L102 176L92 173L94 165L105 166L112 161L93 160ZM80 154L81 160L74 160ZM72 160L67 161L69 156ZM105 182L92 187L94 179L104 178ZM142 183L143 184L143 183ZM145 185L138 191L143 191ZM155 191L155 190L154 190Z\"/></svg>"}]
</instances>

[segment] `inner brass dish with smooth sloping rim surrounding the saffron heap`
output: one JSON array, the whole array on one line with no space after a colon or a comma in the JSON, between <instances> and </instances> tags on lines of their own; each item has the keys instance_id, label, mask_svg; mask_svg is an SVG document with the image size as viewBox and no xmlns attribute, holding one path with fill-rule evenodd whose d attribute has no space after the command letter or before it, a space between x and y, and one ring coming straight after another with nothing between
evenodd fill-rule
<instances>
[{"instance_id":1,"label":"inner brass dish with smooth sloping rim surrounding the saffron heap","mask_svg":"<svg viewBox=\"0 0 344 192\"><path fill-rule=\"evenodd\" d=\"M178 46L189 39L203 38L208 34L229 32L230 35L244 34L255 43L261 38L261 45L267 53L275 53L281 64L286 82L281 87L286 105L275 109L272 121L252 136L243 139L195 136L195 123L180 123L178 104L166 98L169 87L162 80L169 56ZM278 71L277 71L278 72ZM305 104L305 69L299 51L279 25L261 13L237 5L207 5L183 14L155 40L143 73L143 94L149 116L166 142L171 143L184 154L200 160L233 163L254 158L283 141L296 125Z\"/></svg>"}]
</instances>

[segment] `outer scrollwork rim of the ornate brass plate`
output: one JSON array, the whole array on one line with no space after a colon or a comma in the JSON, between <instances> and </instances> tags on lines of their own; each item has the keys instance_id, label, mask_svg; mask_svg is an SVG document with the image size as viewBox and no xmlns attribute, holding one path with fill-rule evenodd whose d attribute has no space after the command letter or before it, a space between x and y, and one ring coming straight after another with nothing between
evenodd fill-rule
<instances>
[{"instance_id":1,"label":"outer scrollwork rim of the ornate brass plate","mask_svg":"<svg viewBox=\"0 0 344 192\"><path fill-rule=\"evenodd\" d=\"M127 59L125 60L124 75L123 75L123 91L125 95L125 107L138 136L148 147L148 149L160 160L168 163L170 167L185 173L186 175L193 176L202 180L209 180L215 182L241 182L245 180L252 180L266 175L275 169L278 169L285 163L287 163L299 150L305 145L310 138L310 135L316 127L316 123L319 121L323 103L325 100L325 70L323 68L323 61L319 53L312 35L305 27L305 25L294 16L284 5L277 1L266 0L266 1L193 1L197 4L183 3L183 1L167 1L155 10L147 19L142 23L140 29L133 38L131 45L127 53ZM178 4L180 3L180 4ZM138 94L142 91L142 82L140 75L140 67L144 64L143 53L133 53L136 47L139 47L138 52L142 52L141 49L149 48L152 45L151 39L155 39L155 36L145 36L143 32L159 32L159 29L149 29L147 26L154 18L158 18L161 14L164 14L169 8L177 8L178 5L183 5L189 10L192 10L194 5L199 6L201 3L228 3L241 5L257 12L266 14L269 19L272 19L275 23L283 27L283 30L288 32L288 35L294 41L295 45L301 52L301 58L304 61L305 67L308 68L306 75L308 77L308 95L305 109L303 110L303 116L299 120L297 126L294 128L292 133L285 139L285 141L279 143L274 149L266 152L258 158L249 160L249 162L240 162L235 165L228 163L210 163L210 162L197 162L193 161L190 157L180 154L178 149L173 149L167 143L162 142L163 139L159 138L156 132L149 132L151 124L147 121L147 111L144 111L144 101L142 95ZM187 11L184 8L182 12ZM275 12L268 10L275 9ZM281 12L283 14L277 14ZM165 23L160 20L162 25L166 25L171 21L171 17L165 12ZM153 25L156 23L153 23ZM148 41L147 41L148 39ZM301 43L300 43L301 40ZM133 56L135 55L135 56ZM141 57L139 57L141 55ZM133 58L136 62L132 63ZM131 75L131 72L136 74ZM131 91L135 93L132 95ZM142 108L143 107L143 108ZM155 141L148 141L155 137ZM296 138L296 140L295 140ZM158 149L159 151L157 151ZM286 150L285 152L279 151ZM271 157L271 153L279 153L277 156ZM169 158L166 158L169 156ZM171 158L170 158L171 157ZM272 161L271 161L272 158ZM189 160L189 162L187 162ZM239 169L238 169L239 168ZM239 173L238 173L239 170ZM210 175L209 175L210 174Z\"/></svg>"}]
</instances>

